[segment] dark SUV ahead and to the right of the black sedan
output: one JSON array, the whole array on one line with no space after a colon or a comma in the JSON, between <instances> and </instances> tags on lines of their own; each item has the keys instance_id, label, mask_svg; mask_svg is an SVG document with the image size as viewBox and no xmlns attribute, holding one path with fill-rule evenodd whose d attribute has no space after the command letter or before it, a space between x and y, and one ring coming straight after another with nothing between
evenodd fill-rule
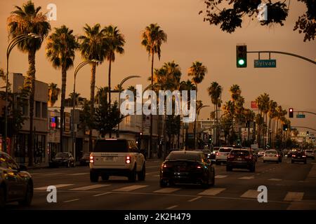
<instances>
[{"instance_id":1,"label":"dark SUV ahead and to the right of the black sedan","mask_svg":"<svg viewBox=\"0 0 316 224\"><path fill-rule=\"evenodd\" d=\"M233 168L249 169L250 172L256 171L256 158L247 149L232 149L227 157L226 171Z\"/></svg>"}]
</instances>

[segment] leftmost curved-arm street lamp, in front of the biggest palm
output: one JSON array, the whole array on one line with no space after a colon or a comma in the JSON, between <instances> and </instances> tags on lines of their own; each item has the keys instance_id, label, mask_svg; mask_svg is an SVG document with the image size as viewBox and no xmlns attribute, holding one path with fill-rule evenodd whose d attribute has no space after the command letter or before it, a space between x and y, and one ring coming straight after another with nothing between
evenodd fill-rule
<instances>
[{"instance_id":1,"label":"leftmost curved-arm street lamp, in front of the biggest palm","mask_svg":"<svg viewBox=\"0 0 316 224\"><path fill-rule=\"evenodd\" d=\"M10 43L8 44L8 48L6 49L6 105L4 110L4 151L7 152L6 147L6 138L8 136L8 59L11 53L11 50L20 43L21 41L24 41L27 38L41 38L40 35L37 34L21 34L18 36L15 36Z\"/></svg>"}]
</instances>

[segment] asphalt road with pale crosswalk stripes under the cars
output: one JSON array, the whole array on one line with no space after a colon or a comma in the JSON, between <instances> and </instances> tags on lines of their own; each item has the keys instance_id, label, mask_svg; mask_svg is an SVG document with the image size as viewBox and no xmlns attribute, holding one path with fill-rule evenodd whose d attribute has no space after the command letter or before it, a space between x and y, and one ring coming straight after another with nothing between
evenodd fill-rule
<instances>
[{"instance_id":1,"label":"asphalt road with pale crosswalk stripes under the cars","mask_svg":"<svg viewBox=\"0 0 316 224\"><path fill-rule=\"evenodd\" d=\"M308 164L263 163L256 172L242 169L226 172L216 166L216 183L200 186L159 187L162 161L146 165L146 180L129 183L111 176L109 181L91 183L88 167L34 169L34 197L30 207L8 204L7 209L316 209L316 160ZM48 203L47 186L56 186L57 202ZM258 202L258 186L268 189L268 202Z\"/></svg>"}]
</instances>

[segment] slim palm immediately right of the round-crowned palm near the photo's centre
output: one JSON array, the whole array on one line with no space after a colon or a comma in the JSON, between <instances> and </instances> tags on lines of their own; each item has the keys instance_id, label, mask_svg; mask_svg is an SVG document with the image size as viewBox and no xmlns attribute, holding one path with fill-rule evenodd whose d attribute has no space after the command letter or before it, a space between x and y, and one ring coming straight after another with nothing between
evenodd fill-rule
<instances>
[{"instance_id":1,"label":"slim palm immediately right of the round-crowned palm near the photo's centre","mask_svg":"<svg viewBox=\"0 0 316 224\"><path fill-rule=\"evenodd\" d=\"M218 108L220 108L221 104L222 104L222 100L221 95L222 95L222 91L223 88L218 85L218 83L213 82L211 83L211 85L207 88L207 91L209 92L209 96L211 97L211 102L212 104L214 104L215 107L215 115L216 115L216 146L218 145L218 115L219 115L219 110Z\"/></svg>"}]
</instances>

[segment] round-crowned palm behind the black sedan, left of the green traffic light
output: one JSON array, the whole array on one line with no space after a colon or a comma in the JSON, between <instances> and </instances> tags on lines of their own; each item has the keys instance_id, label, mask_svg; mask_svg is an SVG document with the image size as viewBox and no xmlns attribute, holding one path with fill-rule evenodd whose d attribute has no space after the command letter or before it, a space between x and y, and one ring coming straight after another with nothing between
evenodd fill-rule
<instances>
[{"instance_id":1,"label":"round-crowned palm behind the black sedan, left of the green traffic light","mask_svg":"<svg viewBox=\"0 0 316 224\"><path fill-rule=\"evenodd\" d=\"M187 75L188 76L192 76L192 83L195 83L195 90L196 90L196 93L197 93L197 85L199 83L202 83L203 79L204 79L204 76L205 74L207 73L207 68L206 66L204 66L202 64L202 62L193 62L192 63L192 66L190 66L188 72L187 72ZM196 116L197 118L197 116ZM197 132L197 119L195 119L195 124L194 124L194 142L195 142L195 147L196 147L196 144L197 144L197 141L196 141L196 132Z\"/></svg>"}]
</instances>

